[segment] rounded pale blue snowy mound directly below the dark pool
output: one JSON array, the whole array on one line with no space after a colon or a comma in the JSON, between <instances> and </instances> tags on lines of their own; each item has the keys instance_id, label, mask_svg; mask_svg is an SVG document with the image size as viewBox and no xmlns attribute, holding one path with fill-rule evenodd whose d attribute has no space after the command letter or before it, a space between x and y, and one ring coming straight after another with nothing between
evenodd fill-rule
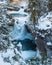
<instances>
[{"instance_id":1,"label":"rounded pale blue snowy mound directly below the dark pool","mask_svg":"<svg viewBox=\"0 0 52 65\"><path fill-rule=\"evenodd\" d=\"M21 55L24 60L32 59L36 57L37 52L28 50L28 51L22 51Z\"/></svg>"}]
</instances>

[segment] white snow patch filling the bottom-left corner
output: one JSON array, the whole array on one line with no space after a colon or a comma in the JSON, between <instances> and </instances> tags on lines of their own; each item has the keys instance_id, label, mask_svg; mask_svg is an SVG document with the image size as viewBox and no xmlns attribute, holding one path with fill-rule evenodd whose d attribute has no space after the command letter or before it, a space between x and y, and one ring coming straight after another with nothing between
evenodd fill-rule
<instances>
[{"instance_id":1,"label":"white snow patch filling the bottom-left corner","mask_svg":"<svg viewBox=\"0 0 52 65\"><path fill-rule=\"evenodd\" d=\"M12 60L13 55L14 55L14 52L11 49L9 49L6 53L5 52L3 52L3 53L0 52L0 65L12 65L12 64L19 65L19 63L17 61L14 62ZM3 61L3 57L7 58L7 56L10 56L9 58L10 58L11 63Z\"/></svg>"}]
</instances>

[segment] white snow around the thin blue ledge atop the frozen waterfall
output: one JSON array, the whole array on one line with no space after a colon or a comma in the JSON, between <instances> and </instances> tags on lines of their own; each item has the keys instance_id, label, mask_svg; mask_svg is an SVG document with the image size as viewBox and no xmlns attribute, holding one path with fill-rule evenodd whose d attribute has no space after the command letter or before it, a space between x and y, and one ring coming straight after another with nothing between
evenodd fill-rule
<instances>
[{"instance_id":1,"label":"white snow around the thin blue ledge atop the frozen waterfall","mask_svg":"<svg viewBox=\"0 0 52 65\"><path fill-rule=\"evenodd\" d=\"M13 18L15 19L15 21L18 21L22 25L25 24L25 21L29 21L30 14L24 12L24 8L21 8L19 11L7 11L7 13L13 14Z\"/></svg>"}]
</instances>

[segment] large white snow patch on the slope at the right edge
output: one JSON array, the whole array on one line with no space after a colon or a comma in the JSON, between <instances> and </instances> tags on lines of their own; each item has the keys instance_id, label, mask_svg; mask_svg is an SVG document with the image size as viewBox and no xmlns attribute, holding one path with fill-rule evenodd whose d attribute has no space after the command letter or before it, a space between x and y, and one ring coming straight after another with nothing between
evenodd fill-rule
<instances>
[{"instance_id":1,"label":"large white snow patch on the slope at the right edge","mask_svg":"<svg viewBox=\"0 0 52 65\"><path fill-rule=\"evenodd\" d=\"M52 12L45 13L38 19L36 27L41 30L47 30L52 28Z\"/></svg>"}]
</instances>

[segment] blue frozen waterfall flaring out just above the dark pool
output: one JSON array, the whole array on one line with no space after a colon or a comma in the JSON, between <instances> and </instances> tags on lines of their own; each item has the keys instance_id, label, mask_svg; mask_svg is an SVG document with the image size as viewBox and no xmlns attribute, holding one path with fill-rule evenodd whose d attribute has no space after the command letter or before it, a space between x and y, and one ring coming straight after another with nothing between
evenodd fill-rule
<instances>
[{"instance_id":1,"label":"blue frozen waterfall flaring out just above the dark pool","mask_svg":"<svg viewBox=\"0 0 52 65\"><path fill-rule=\"evenodd\" d=\"M11 32L12 40L24 40L24 39L31 39L33 37L30 33L26 31L26 27L23 24L14 24L14 29Z\"/></svg>"}]
</instances>

